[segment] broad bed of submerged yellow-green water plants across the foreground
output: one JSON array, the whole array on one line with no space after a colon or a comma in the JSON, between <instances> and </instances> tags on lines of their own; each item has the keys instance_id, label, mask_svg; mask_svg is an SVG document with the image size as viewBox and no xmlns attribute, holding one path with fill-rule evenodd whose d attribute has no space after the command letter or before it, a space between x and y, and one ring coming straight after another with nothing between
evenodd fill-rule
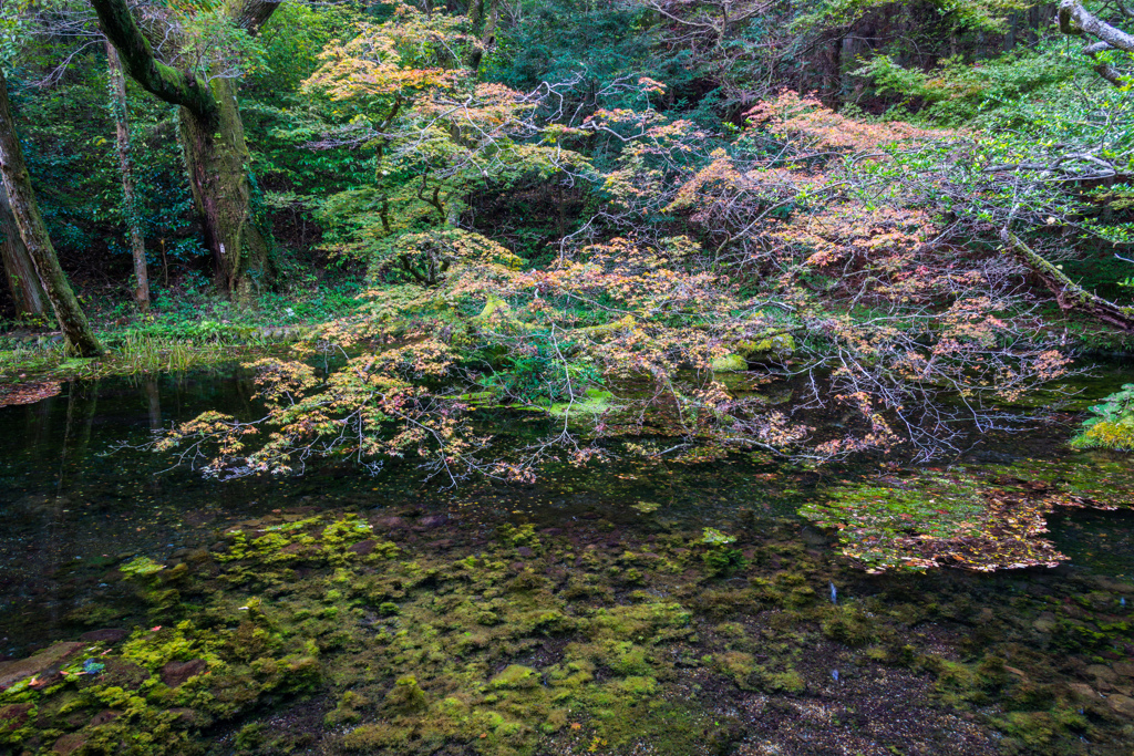
<instances>
[{"instance_id":1,"label":"broad bed of submerged yellow-green water plants across the foreground","mask_svg":"<svg viewBox=\"0 0 1134 756\"><path fill-rule=\"evenodd\" d=\"M1120 724L1111 723L1126 721L1107 703L1122 703L1119 694L1078 703L1065 682L1049 680L1049 657L1012 651L1026 638L1076 659L1115 653L1134 642L1131 626L1105 613L1120 608L1126 584L1076 584L1069 604L1022 595L1017 615L1050 613L1060 630L1036 620L1010 635L1004 628L1015 618L978 612L968 596L904 609L907 588L898 583L832 605L813 586L838 579L866 595L854 588L862 578L809 555L792 541L795 523L770 525L752 559L733 563L721 581L689 547L703 540L700 529L663 529L649 541L626 532L609 547L599 524L567 533L433 524L435 540L422 541L416 528L425 526L406 527L413 521L352 511L272 516L228 530L192 570L143 571L129 580L132 595L158 623L121 640L60 644L52 654L78 652L64 661L66 674L0 691L0 749L98 754L126 742L139 756L181 756L203 753L205 732L226 732L249 756L316 746L384 756L612 755L649 746L709 756L752 737L807 753L860 737L855 710L864 698L883 728L917 721L917 737L941 749L955 745L949 722L965 712L973 753L998 742L985 727L1039 742L1025 724L1042 722L1043 742L1055 748L1080 734L1117 742ZM695 549L736 551L735 540L711 541ZM570 574L565 561L575 564ZM627 592L620 575L632 564L640 585ZM942 634L972 636L950 618L974 612L1002 639L972 661L936 655ZM932 638L913 629L928 617ZM17 664L27 674L37 666ZM1134 674L1127 666L1091 669L1117 682ZM1048 681L1029 687L1016 672ZM932 704L912 703L926 696ZM906 708L891 711L899 702ZM1073 702L1089 715L1065 716ZM815 719L818 711L824 715ZM908 730L871 737L900 747Z\"/></svg>"}]
</instances>

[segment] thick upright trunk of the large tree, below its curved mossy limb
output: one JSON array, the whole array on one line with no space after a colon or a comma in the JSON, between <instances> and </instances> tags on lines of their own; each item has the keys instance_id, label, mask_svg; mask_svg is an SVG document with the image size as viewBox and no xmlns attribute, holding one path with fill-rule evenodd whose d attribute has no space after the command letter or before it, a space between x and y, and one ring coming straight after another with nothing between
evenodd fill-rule
<instances>
[{"instance_id":1,"label":"thick upright trunk of the large tree, below its curved mossy limb","mask_svg":"<svg viewBox=\"0 0 1134 756\"><path fill-rule=\"evenodd\" d=\"M252 209L251 155L236 102L236 83L214 79L214 126L181 108L181 147L189 186L204 223L217 283L235 299L259 294L273 278L268 235Z\"/></svg>"}]
</instances>

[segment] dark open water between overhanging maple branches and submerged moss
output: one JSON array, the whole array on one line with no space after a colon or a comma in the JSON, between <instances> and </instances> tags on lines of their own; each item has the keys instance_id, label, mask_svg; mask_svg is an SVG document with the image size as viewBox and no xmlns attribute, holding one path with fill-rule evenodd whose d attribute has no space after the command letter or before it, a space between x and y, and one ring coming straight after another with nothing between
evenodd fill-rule
<instances>
[{"instance_id":1,"label":"dark open water between overhanging maple branches and submerged moss","mask_svg":"<svg viewBox=\"0 0 1134 756\"><path fill-rule=\"evenodd\" d=\"M1103 394L1120 382L1090 384ZM135 554L159 561L208 545L242 520L294 508L399 507L407 502L463 519L471 529L508 519L540 526L603 519L650 530L702 525L759 533L794 519L824 479L863 470L789 469L743 459L713 465L609 464L548 470L538 484L471 483L441 491L412 465L370 477L327 465L303 477L208 481L168 456L119 449L205 409L251 417L249 376L238 367L147 379L73 382L34 405L0 408L0 652L58 635L69 621L98 612L112 588L112 566ZM1090 399L1092 397L1088 397ZM525 425L528 424L528 425ZM538 432L519 418L511 433ZM966 461L1005 461L1053 448L1044 426L1025 436L989 438ZM869 472L869 470L868 470ZM1057 546L1076 568L1134 575L1134 513L1073 512L1052 523ZM799 537L828 549L828 537L799 523ZM1132 597L1134 598L1134 597Z\"/></svg>"}]
</instances>

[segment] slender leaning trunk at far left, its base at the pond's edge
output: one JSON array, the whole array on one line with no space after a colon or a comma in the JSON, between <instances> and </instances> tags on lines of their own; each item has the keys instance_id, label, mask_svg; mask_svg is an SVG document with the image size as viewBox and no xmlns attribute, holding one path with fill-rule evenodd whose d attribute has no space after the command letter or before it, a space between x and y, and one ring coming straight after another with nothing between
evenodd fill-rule
<instances>
[{"instance_id":1,"label":"slender leaning trunk at far left, its base at the pond's edge","mask_svg":"<svg viewBox=\"0 0 1134 756\"><path fill-rule=\"evenodd\" d=\"M101 355L102 345L91 330L91 324L87 323L86 315L79 307L62 267L59 266L59 257L56 256L40 209L35 204L35 193L32 190L27 165L24 163L24 151L11 120L8 80L2 70L0 70L0 178L8 192L8 203L16 219L16 228L19 229L19 236L27 247L35 274L51 303L67 346L84 357Z\"/></svg>"}]
</instances>

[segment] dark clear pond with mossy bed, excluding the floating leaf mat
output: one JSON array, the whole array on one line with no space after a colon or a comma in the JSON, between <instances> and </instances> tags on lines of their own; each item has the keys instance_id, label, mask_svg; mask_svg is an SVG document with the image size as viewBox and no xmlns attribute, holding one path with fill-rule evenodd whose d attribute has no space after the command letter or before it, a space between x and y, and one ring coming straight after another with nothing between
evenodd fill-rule
<instances>
[{"instance_id":1,"label":"dark clear pond with mossy bed, excluding the floating leaf mat","mask_svg":"<svg viewBox=\"0 0 1134 756\"><path fill-rule=\"evenodd\" d=\"M1088 399L1129 381L1098 373ZM0 754L1134 747L1129 509L1049 513L1055 568L868 575L799 510L924 469L623 460L441 490L411 462L219 482L138 448L252 394L232 367L0 408ZM1134 501L1127 458L1069 455L1063 419L937 469Z\"/></svg>"}]
</instances>

